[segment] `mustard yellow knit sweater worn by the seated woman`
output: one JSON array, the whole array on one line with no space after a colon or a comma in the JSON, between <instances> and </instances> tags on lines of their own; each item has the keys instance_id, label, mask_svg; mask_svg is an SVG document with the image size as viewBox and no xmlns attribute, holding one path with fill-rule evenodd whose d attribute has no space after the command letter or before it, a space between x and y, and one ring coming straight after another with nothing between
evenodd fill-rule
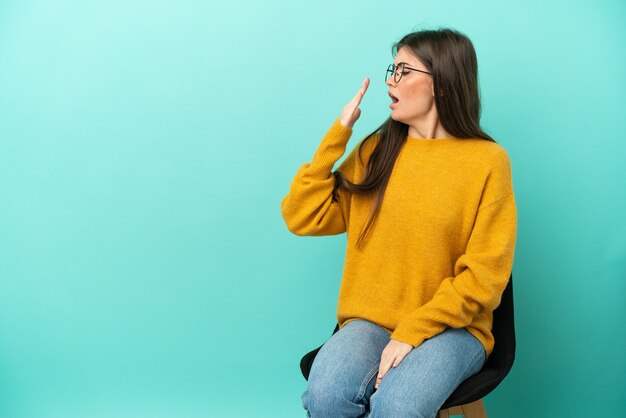
<instances>
[{"instance_id":1,"label":"mustard yellow knit sweater worn by the seated woman","mask_svg":"<svg viewBox=\"0 0 626 418\"><path fill-rule=\"evenodd\" d=\"M493 310L511 274L517 234L508 154L482 139L407 137L359 250L373 197L341 190L332 202L332 169L351 135L336 119L281 202L294 234L348 233L339 326L366 319L414 347L448 327L466 328L488 357ZM363 164L357 144L338 170L360 182L379 139L365 143Z\"/></svg>"}]
</instances>

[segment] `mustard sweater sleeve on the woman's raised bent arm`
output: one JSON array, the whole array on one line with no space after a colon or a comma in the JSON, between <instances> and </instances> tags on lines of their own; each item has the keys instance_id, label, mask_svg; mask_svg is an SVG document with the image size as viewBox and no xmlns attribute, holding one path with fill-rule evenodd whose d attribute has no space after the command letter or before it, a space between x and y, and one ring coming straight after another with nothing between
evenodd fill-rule
<instances>
[{"instance_id":1,"label":"mustard sweater sleeve on the woman's raised bent arm","mask_svg":"<svg viewBox=\"0 0 626 418\"><path fill-rule=\"evenodd\" d=\"M351 135L352 128L335 119L311 162L300 166L281 202L281 213L289 231L296 235L337 235L347 230L351 194L340 189L333 201L332 169L344 154ZM357 149L358 146L338 168L350 181L354 179Z\"/></svg>"}]
</instances>

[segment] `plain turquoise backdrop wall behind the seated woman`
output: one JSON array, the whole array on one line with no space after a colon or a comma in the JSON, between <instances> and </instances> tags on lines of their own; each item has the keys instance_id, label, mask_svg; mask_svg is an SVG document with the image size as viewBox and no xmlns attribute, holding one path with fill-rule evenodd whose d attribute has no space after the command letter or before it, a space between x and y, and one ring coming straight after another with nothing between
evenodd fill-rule
<instances>
[{"instance_id":1,"label":"plain turquoise backdrop wall behind the seated woman","mask_svg":"<svg viewBox=\"0 0 626 418\"><path fill-rule=\"evenodd\" d=\"M490 417L626 410L623 1L0 3L0 416L297 417L345 235L280 201L391 43L473 41L518 202Z\"/></svg>"}]
</instances>

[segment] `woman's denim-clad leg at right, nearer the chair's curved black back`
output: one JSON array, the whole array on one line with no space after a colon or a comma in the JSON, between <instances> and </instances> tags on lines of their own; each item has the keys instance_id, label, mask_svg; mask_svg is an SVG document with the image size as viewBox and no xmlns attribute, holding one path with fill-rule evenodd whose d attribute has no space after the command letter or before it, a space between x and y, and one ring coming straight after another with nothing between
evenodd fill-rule
<instances>
[{"instance_id":1,"label":"woman's denim-clad leg at right, nearer the chair's curved black back","mask_svg":"<svg viewBox=\"0 0 626 418\"><path fill-rule=\"evenodd\" d=\"M425 340L389 369L370 397L370 417L435 417L463 380L485 362L483 345L464 328Z\"/></svg>"}]
</instances>

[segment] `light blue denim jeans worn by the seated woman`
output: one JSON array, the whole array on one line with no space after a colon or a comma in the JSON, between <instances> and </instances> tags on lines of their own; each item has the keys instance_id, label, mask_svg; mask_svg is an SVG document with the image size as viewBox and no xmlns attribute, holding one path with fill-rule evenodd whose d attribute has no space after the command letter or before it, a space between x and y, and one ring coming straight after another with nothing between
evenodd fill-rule
<instances>
[{"instance_id":1,"label":"light blue denim jeans worn by the seated woman","mask_svg":"<svg viewBox=\"0 0 626 418\"><path fill-rule=\"evenodd\" d=\"M411 350L374 390L389 341L387 331L362 319L333 334L317 353L302 394L307 417L434 418L485 362L476 337L464 328L447 328Z\"/></svg>"}]
</instances>

